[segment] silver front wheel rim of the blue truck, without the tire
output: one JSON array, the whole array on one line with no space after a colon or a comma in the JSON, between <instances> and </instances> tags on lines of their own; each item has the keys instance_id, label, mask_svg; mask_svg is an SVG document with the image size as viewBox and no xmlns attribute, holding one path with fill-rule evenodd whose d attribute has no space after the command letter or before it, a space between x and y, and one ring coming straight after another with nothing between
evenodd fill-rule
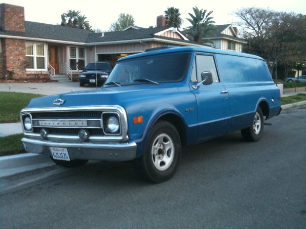
<instances>
[{"instance_id":1,"label":"silver front wheel rim of the blue truck, without the tire","mask_svg":"<svg viewBox=\"0 0 306 229\"><path fill-rule=\"evenodd\" d=\"M174 154L174 144L170 136L166 133L158 135L151 149L154 166L160 171L168 169L172 164Z\"/></svg>"}]
</instances>

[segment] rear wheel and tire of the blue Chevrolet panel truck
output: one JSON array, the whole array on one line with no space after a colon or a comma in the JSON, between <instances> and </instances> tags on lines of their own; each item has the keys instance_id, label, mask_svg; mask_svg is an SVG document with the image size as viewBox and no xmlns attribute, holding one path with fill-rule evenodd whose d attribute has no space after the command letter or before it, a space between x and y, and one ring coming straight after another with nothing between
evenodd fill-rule
<instances>
[{"instance_id":1,"label":"rear wheel and tire of the blue Chevrolet panel truck","mask_svg":"<svg viewBox=\"0 0 306 229\"><path fill-rule=\"evenodd\" d=\"M249 142L257 142L261 138L263 125L263 114L260 107L258 107L252 125L241 130L243 138Z\"/></svg>"}]
</instances>

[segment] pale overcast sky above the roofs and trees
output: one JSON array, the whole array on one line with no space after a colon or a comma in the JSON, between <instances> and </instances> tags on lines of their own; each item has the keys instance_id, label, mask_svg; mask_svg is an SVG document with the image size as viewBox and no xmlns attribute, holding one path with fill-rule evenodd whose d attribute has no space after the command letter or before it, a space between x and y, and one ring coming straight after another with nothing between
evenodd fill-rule
<instances>
[{"instance_id":1,"label":"pale overcast sky above the roofs and trees","mask_svg":"<svg viewBox=\"0 0 306 229\"><path fill-rule=\"evenodd\" d=\"M204 1L204 0L116 0L116 1L34 1L34 0L5 0L3 3L23 6L25 20L47 24L60 24L61 14L68 10L81 11L87 17L92 28L100 28L107 31L111 23L117 21L120 13L131 14L135 24L148 28L156 26L156 17L163 15L168 7L179 9L183 19L181 28L190 23L188 13L193 13L193 7L213 11L212 17L216 25L231 24L238 18L234 16L236 10L247 7L270 8L276 11L294 12L306 15L305 0L231 0L231 1Z\"/></svg>"}]
</instances>

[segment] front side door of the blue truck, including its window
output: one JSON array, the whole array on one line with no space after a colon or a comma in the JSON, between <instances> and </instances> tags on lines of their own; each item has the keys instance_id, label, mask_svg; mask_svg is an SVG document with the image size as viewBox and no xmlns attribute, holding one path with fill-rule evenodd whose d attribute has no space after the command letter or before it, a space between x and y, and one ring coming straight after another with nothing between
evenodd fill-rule
<instances>
[{"instance_id":1,"label":"front side door of the blue truck, including its window","mask_svg":"<svg viewBox=\"0 0 306 229\"><path fill-rule=\"evenodd\" d=\"M202 72L211 72L213 83L200 84L195 89L192 85L201 82ZM203 141L227 133L230 120L230 102L223 83L219 81L214 57L196 55L193 66L190 89L195 94L198 105L198 141Z\"/></svg>"}]
</instances>

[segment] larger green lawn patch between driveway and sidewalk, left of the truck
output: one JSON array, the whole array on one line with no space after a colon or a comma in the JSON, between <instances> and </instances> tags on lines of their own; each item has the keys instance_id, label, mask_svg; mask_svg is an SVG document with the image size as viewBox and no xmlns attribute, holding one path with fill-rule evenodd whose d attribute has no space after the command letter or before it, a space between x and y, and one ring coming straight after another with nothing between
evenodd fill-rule
<instances>
[{"instance_id":1,"label":"larger green lawn patch between driveway and sidewalk, left of the truck","mask_svg":"<svg viewBox=\"0 0 306 229\"><path fill-rule=\"evenodd\" d=\"M19 112L39 94L0 91L0 123L20 122Z\"/></svg>"}]
</instances>

